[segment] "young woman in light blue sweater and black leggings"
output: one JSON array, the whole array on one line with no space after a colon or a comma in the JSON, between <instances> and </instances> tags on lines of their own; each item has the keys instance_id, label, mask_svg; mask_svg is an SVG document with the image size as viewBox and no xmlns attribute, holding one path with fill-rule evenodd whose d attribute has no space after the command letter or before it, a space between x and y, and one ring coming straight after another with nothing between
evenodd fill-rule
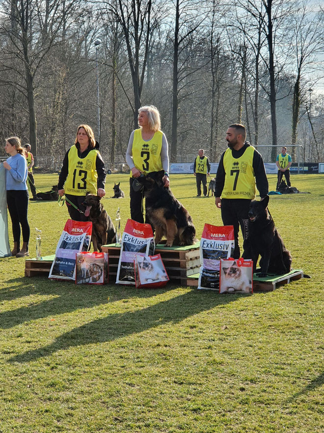
<instances>
[{"instance_id":1,"label":"young woman in light blue sweater and black leggings","mask_svg":"<svg viewBox=\"0 0 324 433\"><path fill-rule=\"evenodd\" d=\"M27 188L27 161L21 141L18 137L6 139L5 151L10 157L3 162L6 169L7 205L12 222L14 248L11 251L16 257L29 255L28 242L30 228L27 220L28 188ZM20 249L20 226L23 232L23 247Z\"/></svg>"}]
</instances>

